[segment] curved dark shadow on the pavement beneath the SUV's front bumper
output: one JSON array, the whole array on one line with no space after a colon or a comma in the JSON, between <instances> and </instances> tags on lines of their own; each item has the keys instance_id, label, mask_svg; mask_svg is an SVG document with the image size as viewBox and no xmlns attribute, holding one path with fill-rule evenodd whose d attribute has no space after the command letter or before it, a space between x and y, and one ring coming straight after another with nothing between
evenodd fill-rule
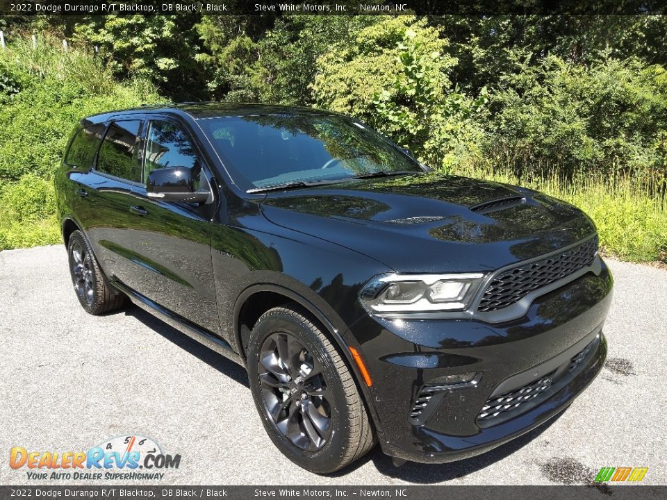
<instances>
[{"instance_id":1,"label":"curved dark shadow on the pavement beneath the SUV's front bumper","mask_svg":"<svg viewBox=\"0 0 667 500\"><path fill-rule=\"evenodd\" d=\"M338 471L338 473L333 474L333 476L345 476L357 467L361 467L361 465L372 461L375 467L377 467L378 472L392 478L401 479L402 481L410 481L411 483L420 484L452 481L452 479L467 476L468 474L477 472L489 465L493 465L495 462L506 458L518 449L524 447L541 433L546 431L547 428L552 426L567 410L568 409L563 410L548 422L545 422L545 424L534 428L529 433L517 437L515 440L511 440L487 453L472 458L466 458L465 460L444 464L406 462L402 467L395 467L391 462L391 458L382 453L379 446L376 446L367 456L349 465L349 467L345 467L345 469Z\"/></svg>"}]
</instances>

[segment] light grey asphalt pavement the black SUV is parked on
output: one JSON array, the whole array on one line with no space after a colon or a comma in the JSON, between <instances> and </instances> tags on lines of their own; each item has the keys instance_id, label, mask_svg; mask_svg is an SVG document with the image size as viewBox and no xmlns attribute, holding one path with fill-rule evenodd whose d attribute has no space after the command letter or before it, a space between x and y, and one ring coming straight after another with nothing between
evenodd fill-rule
<instances>
[{"instance_id":1,"label":"light grey asphalt pavement the black SUV is parked on","mask_svg":"<svg viewBox=\"0 0 667 500\"><path fill-rule=\"evenodd\" d=\"M461 462L396 468L376 448L316 476L267 437L244 369L133 306L86 314L62 246L2 251L0 484L63 484L10 468L13 447L63 453L126 435L181 455L178 469L137 485L585 484L601 467L648 467L644 484L667 484L667 272L609 265L607 363L557 419Z\"/></svg>"}]
</instances>

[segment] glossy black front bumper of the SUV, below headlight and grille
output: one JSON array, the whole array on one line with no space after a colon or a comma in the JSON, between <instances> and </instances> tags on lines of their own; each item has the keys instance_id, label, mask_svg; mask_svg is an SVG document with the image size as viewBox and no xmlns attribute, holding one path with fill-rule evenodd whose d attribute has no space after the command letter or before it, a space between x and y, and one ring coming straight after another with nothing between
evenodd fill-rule
<instances>
[{"instance_id":1,"label":"glossy black front bumper of the SUV, below headlight and grille","mask_svg":"<svg viewBox=\"0 0 667 500\"><path fill-rule=\"evenodd\" d=\"M420 456L434 462L459 460L474 455L477 446L500 444L557 413L554 408L545 412L549 405L542 405L501 426L481 429L475 423L481 406L502 381L527 370L532 370L533 378L545 375L538 365L602 330L612 285L604 266L600 276L589 274L546 294L534 301L525 317L504 324L362 317L351 330L361 343L369 371L377 374L371 389L386 433L384 447L408 460L420 461ZM566 400L571 401L602 369L604 345L597 353L598 363L582 370L563 389L569 394ZM422 385L464 372L482 372L477 387L448 394L424 426L410 424L407 415ZM582 385L583 380L588 382Z\"/></svg>"}]
</instances>

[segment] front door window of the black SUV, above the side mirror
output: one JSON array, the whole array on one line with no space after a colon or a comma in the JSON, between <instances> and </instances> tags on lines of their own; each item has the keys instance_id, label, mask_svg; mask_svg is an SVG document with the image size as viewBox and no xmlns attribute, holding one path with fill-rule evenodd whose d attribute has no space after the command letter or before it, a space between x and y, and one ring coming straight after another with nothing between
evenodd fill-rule
<instances>
[{"instance_id":1,"label":"front door window of the black SUV, above the side mirror","mask_svg":"<svg viewBox=\"0 0 667 500\"><path fill-rule=\"evenodd\" d=\"M201 165L188 134L172 122L151 121L146 135L144 183L149 172L164 167L195 169L196 172L192 172L195 178L201 173Z\"/></svg>"}]
</instances>

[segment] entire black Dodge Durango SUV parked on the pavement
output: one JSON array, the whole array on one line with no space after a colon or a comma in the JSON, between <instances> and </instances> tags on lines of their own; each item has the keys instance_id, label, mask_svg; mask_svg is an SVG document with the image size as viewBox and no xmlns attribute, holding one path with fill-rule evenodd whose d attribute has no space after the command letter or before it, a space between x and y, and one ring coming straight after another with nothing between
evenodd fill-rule
<instances>
[{"instance_id":1,"label":"entire black Dodge Durango SUV parked on the pavement","mask_svg":"<svg viewBox=\"0 0 667 500\"><path fill-rule=\"evenodd\" d=\"M396 463L483 453L604 363L612 278L586 215L430 172L349 117L95 115L56 192L81 306L129 298L246 367L268 435L313 472L376 442Z\"/></svg>"}]
</instances>

